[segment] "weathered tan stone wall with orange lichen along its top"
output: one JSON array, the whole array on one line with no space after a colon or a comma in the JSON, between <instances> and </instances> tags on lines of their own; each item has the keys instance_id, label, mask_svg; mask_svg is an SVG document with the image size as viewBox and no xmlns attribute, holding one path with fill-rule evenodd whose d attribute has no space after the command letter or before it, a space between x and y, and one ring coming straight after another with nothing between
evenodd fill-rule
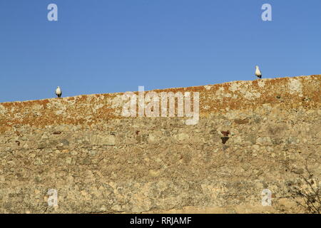
<instances>
[{"instance_id":1,"label":"weathered tan stone wall with orange lichen along its top","mask_svg":"<svg viewBox=\"0 0 321 228\"><path fill-rule=\"evenodd\" d=\"M304 212L287 190L306 160L320 180L320 81L154 90L198 92L195 125L125 118L123 93L0 103L0 212Z\"/></svg>"}]
</instances>

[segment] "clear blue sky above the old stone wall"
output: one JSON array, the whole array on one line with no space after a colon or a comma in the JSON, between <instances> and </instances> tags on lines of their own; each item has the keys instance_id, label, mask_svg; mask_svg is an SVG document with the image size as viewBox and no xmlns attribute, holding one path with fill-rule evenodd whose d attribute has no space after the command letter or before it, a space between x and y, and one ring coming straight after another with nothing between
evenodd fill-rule
<instances>
[{"instance_id":1,"label":"clear blue sky above the old stone wall","mask_svg":"<svg viewBox=\"0 0 321 228\"><path fill-rule=\"evenodd\" d=\"M253 80L255 65L320 74L321 1L0 1L0 102Z\"/></svg>"}]
</instances>

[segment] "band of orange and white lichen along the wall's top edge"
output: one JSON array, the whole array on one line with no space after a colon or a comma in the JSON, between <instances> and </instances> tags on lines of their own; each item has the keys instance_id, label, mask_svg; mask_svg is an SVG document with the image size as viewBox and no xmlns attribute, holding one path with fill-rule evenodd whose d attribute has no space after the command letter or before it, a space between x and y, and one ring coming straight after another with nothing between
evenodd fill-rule
<instances>
[{"instance_id":1,"label":"band of orange and white lichen along the wall's top edge","mask_svg":"<svg viewBox=\"0 0 321 228\"><path fill-rule=\"evenodd\" d=\"M218 85L193 86L153 90L156 93L190 92L200 98L200 117L229 110L255 109L260 105L278 105L280 108L320 107L321 76L235 81ZM148 91L145 91L145 94ZM134 92L138 95L138 92ZM0 103L0 132L14 125L71 124L92 125L100 121L122 119L123 93L78 95L69 98L51 98L24 102ZM123 103L122 103L123 102ZM177 104L176 104L177 108ZM242 122L242 121L241 121Z\"/></svg>"}]
</instances>

